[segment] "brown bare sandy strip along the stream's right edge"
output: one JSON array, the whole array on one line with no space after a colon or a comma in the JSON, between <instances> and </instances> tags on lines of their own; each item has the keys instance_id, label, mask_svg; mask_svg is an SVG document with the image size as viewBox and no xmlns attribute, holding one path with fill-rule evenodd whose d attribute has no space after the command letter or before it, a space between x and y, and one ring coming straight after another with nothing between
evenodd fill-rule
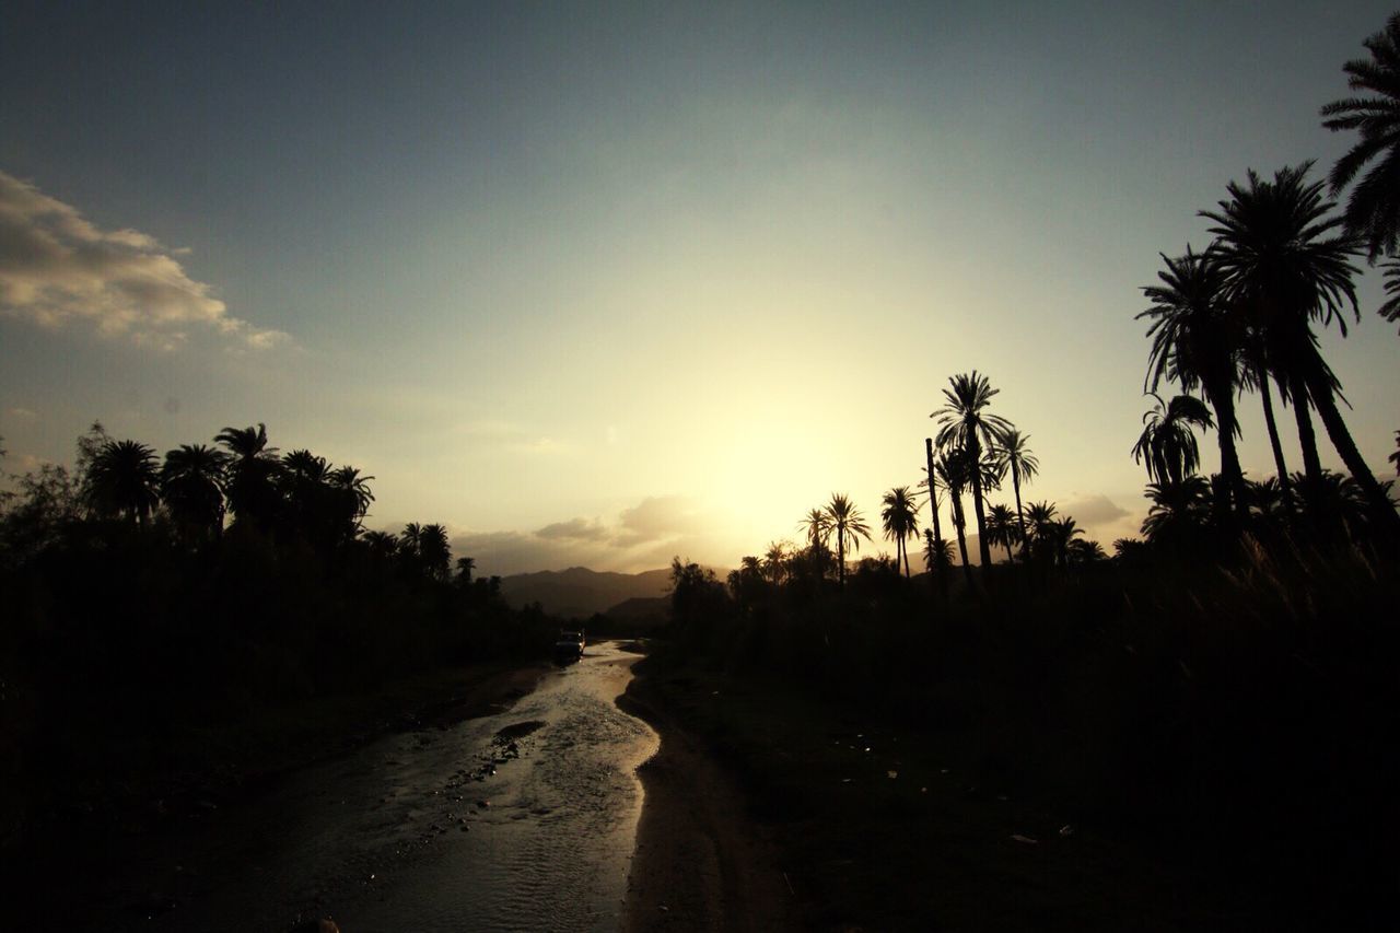
<instances>
[{"instance_id":1,"label":"brown bare sandy strip along the stream's right edge","mask_svg":"<svg viewBox=\"0 0 1400 933\"><path fill-rule=\"evenodd\" d=\"M735 782L665 713L645 677L617 705L661 734L661 751L637 770L645 801L624 933L799 929L776 849Z\"/></svg>"}]
</instances>

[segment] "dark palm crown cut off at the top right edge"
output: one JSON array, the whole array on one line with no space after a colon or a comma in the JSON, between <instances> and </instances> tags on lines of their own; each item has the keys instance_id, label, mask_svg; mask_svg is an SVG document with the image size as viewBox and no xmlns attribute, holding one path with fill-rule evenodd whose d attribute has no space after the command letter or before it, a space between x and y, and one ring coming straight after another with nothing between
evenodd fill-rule
<instances>
[{"instance_id":1,"label":"dark palm crown cut off at the top right edge","mask_svg":"<svg viewBox=\"0 0 1400 933\"><path fill-rule=\"evenodd\" d=\"M1400 247L1400 13L1364 45L1371 59L1343 66L1352 91L1375 97L1348 97L1322 108L1323 126L1331 132L1358 130L1361 139L1331 168L1331 196L1337 198L1376 160L1347 199L1347 230L1362 240L1368 258L1396 255ZM1394 321L1394 315L1386 315Z\"/></svg>"}]
</instances>

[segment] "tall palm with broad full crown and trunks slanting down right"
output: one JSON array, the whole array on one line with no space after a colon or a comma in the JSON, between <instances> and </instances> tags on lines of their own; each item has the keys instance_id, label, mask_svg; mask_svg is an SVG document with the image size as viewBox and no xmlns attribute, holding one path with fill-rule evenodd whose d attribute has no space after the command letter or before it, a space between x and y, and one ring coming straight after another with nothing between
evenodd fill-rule
<instances>
[{"instance_id":1,"label":"tall palm with broad full crown and trunks slanting down right","mask_svg":"<svg viewBox=\"0 0 1400 933\"><path fill-rule=\"evenodd\" d=\"M1400 516L1390 507L1337 409L1337 380L1322 359L1310 326L1312 321L1323 326L1336 321L1345 336L1345 305L1361 319L1352 282L1357 268L1350 262L1357 241L1334 233L1341 217L1329 216L1336 205L1323 198L1323 182L1306 181L1310 168L1312 163L1302 163L1278 170L1271 182L1250 170L1247 186L1231 182L1231 199L1219 202L1218 212L1201 216L1217 224L1211 233L1217 235L1226 276L1226 298L1261 322L1270 363L1281 370L1289 387L1308 476L1322 475L1308 415L1310 402L1371 502L1378 524L1400 534Z\"/></svg>"}]
</instances>

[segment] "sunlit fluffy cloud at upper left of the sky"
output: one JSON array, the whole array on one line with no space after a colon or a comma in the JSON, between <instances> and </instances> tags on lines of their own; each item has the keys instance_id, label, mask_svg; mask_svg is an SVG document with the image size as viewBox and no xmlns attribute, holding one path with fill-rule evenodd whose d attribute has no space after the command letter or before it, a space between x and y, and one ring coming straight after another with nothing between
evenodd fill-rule
<instances>
[{"instance_id":1,"label":"sunlit fluffy cloud at upper left of the sky","mask_svg":"<svg viewBox=\"0 0 1400 933\"><path fill-rule=\"evenodd\" d=\"M228 315L210 286L137 230L101 230L78 210L0 171L0 314L62 329L87 324L109 338L174 350L190 328L248 349L290 340Z\"/></svg>"}]
</instances>

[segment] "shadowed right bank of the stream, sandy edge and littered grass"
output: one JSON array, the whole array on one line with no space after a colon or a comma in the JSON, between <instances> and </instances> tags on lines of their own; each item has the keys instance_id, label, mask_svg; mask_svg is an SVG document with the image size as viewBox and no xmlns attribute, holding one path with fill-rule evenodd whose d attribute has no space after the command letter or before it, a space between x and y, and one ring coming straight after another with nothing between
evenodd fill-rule
<instances>
[{"instance_id":1,"label":"shadowed right bank of the stream, sandy edge and littered grass","mask_svg":"<svg viewBox=\"0 0 1400 933\"><path fill-rule=\"evenodd\" d=\"M777 679L662 653L622 702L662 734L641 770L629 930L1194 930L1281 915L1228 877L986 782L932 735ZM741 873L763 867L756 853L777 885L722 871L715 884L715 850ZM736 881L750 897L735 904L787 926L715 915L703 897Z\"/></svg>"}]
</instances>

